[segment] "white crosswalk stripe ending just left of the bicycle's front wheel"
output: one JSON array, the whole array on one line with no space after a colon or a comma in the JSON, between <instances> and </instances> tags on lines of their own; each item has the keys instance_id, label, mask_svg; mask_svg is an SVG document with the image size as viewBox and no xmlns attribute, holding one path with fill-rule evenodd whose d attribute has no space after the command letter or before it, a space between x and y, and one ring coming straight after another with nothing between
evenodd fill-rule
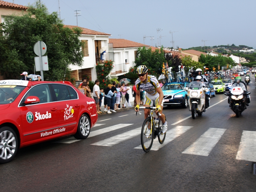
<instances>
[{"instance_id":1,"label":"white crosswalk stripe ending just left of the bicycle's front wheel","mask_svg":"<svg viewBox=\"0 0 256 192\"><path fill-rule=\"evenodd\" d=\"M131 131L124 132L124 133L119 134L119 135L115 135L113 137L101 140L101 141L96 142L96 143L92 143L91 145L100 145L100 146L109 146L109 147L111 147L113 145L121 143L122 141L131 139L131 138L133 138L137 135L140 135L140 132L141 132L141 127L133 129Z\"/></svg>"}]
</instances>

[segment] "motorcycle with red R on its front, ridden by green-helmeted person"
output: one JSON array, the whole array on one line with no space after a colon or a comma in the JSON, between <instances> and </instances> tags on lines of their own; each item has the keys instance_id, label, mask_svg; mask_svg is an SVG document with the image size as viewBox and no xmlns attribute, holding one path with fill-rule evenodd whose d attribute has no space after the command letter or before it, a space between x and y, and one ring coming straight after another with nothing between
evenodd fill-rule
<instances>
[{"instance_id":1,"label":"motorcycle with red R on its front, ridden by green-helmeted person","mask_svg":"<svg viewBox=\"0 0 256 192\"><path fill-rule=\"evenodd\" d=\"M230 97L230 108L234 111L236 117L239 117L246 109L246 96L251 92L245 92L242 87L237 86L231 87L230 92L224 94Z\"/></svg>"}]
</instances>

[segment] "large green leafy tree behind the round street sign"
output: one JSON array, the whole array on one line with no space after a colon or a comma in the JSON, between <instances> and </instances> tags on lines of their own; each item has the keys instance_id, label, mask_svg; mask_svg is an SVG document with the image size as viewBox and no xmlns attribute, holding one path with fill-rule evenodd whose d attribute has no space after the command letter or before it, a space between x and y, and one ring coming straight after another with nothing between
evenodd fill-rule
<instances>
[{"instance_id":1,"label":"large green leafy tree behind the round street sign","mask_svg":"<svg viewBox=\"0 0 256 192\"><path fill-rule=\"evenodd\" d=\"M34 74L33 47L37 41L43 41L49 63L44 80L61 80L66 66L82 65L82 43L78 38L81 30L64 27L57 12L50 14L39 1L28 7L22 16L6 17L0 25L0 34L4 34L0 36L0 74L8 79L20 78L23 71Z\"/></svg>"}]
</instances>

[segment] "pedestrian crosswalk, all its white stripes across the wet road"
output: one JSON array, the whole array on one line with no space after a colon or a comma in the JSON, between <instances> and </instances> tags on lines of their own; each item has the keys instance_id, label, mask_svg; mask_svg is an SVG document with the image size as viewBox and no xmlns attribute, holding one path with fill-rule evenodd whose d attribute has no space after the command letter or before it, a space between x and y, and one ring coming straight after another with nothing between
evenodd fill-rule
<instances>
[{"instance_id":1,"label":"pedestrian crosswalk, all its white stripes across the wet road","mask_svg":"<svg viewBox=\"0 0 256 192\"><path fill-rule=\"evenodd\" d=\"M107 124L96 124L94 127L97 127L97 130L93 131L93 128L94 128L93 127L88 138L102 135L108 132L113 132L113 136L103 140L99 140L97 142L95 142L95 139L94 139L94 142L91 143L90 145L112 147L135 137L137 138L138 143L140 143L141 127L138 127L129 131L123 130L122 133L116 135L114 132L115 130L119 130L124 127L127 127L127 129L129 129L129 126L132 126L133 124L116 124L116 125L104 127L106 125ZM100 127L104 127L104 128L100 128ZM151 151L157 151L163 147L168 147L167 145L171 145L170 142L180 137L182 134L184 134L191 128L193 128L193 126L169 126L168 131L166 132L164 143L161 145L158 142L158 139L156 138L153 142ZM190 146L184 149L184 151L181 152L181 154L209 156L212 150L214 149L214 147L218 144L220 139L223 137L225 132L226 132L226 129L209 128L201 136L199 136L199 138L196 139L195 142L191 142ZM188 134L186 134L186 137L189 137ZM76 141L79 141L79 140L76 140L73 137L70 137L70 138L55 141L55 142L73 143ZM142 149L142 147L139 144L134 149ZM239 149L237 151L236 159L245 160L245 161L254 161L254 162L256 161L256 132L255 131L243 131Z\"/></svg>"}]
</instances>

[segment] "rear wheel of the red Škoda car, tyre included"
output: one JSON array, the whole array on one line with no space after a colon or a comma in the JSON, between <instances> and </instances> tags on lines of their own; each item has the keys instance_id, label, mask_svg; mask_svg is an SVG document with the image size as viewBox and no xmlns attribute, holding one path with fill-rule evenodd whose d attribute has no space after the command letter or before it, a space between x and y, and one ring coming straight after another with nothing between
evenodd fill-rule
<instances>
[{"instance_id":1,"label":"rear wheel of the red \u0160koda car, tyre included","mask_svg":"<svg viewBox=\"0 0 256 192\"><path fill-rule=\"evenodd\" d=\"M89 136L89 133L91 131L91 122L88 115L83 114L80 119L77 126L77 131L74 137L76 139L86 139Z\"/></svg>"}]
</instances>

